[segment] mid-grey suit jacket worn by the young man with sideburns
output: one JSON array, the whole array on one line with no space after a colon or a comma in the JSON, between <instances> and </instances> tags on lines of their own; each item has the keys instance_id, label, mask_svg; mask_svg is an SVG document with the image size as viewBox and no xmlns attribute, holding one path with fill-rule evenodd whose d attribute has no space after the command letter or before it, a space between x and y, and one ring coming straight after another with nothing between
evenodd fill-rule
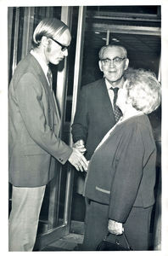
<instances>
[{"instance_id":1,"label":"mid-grey suit jacket worn by the young man with sideburns","mask_svg":"<svg viewBox=\"0 0 168 256\"><path fill-rule=\"evenodd\" d=\"M60 119L48 80L31 54L20 61L8 91L9 182L37 187L54 176L72 149L59 138Z\"/></svg>"}]
</instances>

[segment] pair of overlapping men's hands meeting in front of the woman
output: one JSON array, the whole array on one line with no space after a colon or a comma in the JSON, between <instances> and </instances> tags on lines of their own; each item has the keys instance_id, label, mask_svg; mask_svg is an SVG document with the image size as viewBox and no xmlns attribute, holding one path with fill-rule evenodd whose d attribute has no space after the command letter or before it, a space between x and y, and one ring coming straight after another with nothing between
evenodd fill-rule
<instances>
[{"instance_id":1,"label":"pair of overlapping men's hands meeting in front of the woman","mask_svg":"<svg viewBox=\"0 0 168 256\"><path fill-rule=\"evenodd\" d=\"M69 158L70 164L75 166L77 171L87 172L88 161L83 155L87 149L84 146L83 140L74 143L72 149L73 151Z\"/></svg>"}]
</instances>

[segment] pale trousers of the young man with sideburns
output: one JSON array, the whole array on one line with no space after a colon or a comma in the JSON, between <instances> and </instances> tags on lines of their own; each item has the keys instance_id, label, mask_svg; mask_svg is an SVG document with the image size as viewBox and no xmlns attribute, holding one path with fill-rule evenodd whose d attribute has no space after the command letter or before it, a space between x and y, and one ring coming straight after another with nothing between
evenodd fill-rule
<instances>
[{"instance_id":1,"label":"pale trousers of the young man with sideburns","mask_svg":"<svg viewBox=\"0 0 168 256\"><path fill-rule=\"evenodd\" d=\"M46 185L36 188L14 187L8 222L8 250L32 251Z\"/></svg>"}]
</instances>

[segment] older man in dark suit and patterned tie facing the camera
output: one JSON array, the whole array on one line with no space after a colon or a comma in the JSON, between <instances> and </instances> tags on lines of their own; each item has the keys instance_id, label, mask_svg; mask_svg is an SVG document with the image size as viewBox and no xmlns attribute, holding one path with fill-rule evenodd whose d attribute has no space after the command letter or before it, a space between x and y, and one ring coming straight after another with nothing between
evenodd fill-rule
<instances>
[{"instance_id":1,"label":"older man in dark suit and patterned tie facing the camera","mask_svg":"<svg viewBox=\"0 0 168 256\"><path fill-rule=\"evenodd\" d=\"M98 65L104 73L104 79L87 84L81 89L72 136L77 148L87 148L87 160L91 159L98 143L118 120L118 116L115 116L115 93L111 87L122 88L128 64L125 47L120 44L103 46L99 51ZM82 174L79 173L77 181L79 194L83 193L85 177Z\"/></svg>"}]
</instances>

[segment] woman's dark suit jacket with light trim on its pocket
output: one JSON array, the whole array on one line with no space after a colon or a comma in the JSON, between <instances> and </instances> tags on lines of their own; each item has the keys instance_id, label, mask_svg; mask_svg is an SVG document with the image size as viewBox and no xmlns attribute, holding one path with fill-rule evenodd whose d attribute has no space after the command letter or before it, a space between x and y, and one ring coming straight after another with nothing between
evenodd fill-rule
<instances>
[{"instance_id":1,"label":"woman's dark suit jacket with light trim on its pocket","mask_svg":"<svg viewBox=\"0 0 168 256\"><path fill-rule=\"evenodd\" d=\"M115 126L88 166L85 195L125 223L132 207L154 205L156 146L148 116Z\"/></svg>"}]
</instances>

